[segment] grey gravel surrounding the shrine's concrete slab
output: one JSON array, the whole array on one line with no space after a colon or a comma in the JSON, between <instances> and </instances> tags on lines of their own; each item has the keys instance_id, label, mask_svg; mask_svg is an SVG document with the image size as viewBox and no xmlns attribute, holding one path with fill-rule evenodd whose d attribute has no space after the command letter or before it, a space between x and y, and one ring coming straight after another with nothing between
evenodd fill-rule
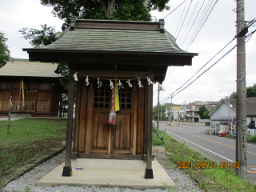
<instances>
[{"instance_id":1,"label":"grey gravel surrounding the shrine's concrete slab","mask_svg":"<svg viewBox=\"0 0 256 192\"><path fill-rule=\"evenodd\" d=\"M4 192L13 192L13 191L59 191L59 192L78 192L78 191L203 191L198 187L198 184L189 178L184 172L178 169L170 169L167 165L165 154L154 154L158 159L158 162L166 170L166 173L170 178L175 182L176 186L173 188L166 187L165 190L160 188L158 189L148 189L148 190L134 190L130 188L121 188L121 187L88 187L88 186L36 186L36 182L48 174L51 170L54 170L55 167L59 166L62 162L65 161L65 150L55 156L50 158L48 161L43 162L42 164L34 167L30 172L22 175L22 177L9 182L5 188L2 189ZM1 191L1 190L0 190Z\"/></svg>"}]
</instances>

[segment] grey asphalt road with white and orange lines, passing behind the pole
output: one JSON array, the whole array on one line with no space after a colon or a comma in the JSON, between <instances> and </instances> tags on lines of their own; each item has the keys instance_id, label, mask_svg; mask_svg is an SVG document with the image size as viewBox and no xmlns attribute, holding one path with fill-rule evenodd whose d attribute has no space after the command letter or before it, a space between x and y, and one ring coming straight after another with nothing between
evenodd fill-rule
<instances>
[{"instance_id":1,"label":"grey asphalt road with white and orange lines, passing behind the pole","mask_svg":"<svg viewBox=\"0 0 256 192\"><path fill-rule=\"evenodd\" d=\"M194 150L202 153L213 161L235 162L235 140L206 134L209 126L166 126L159 123L178 142L186 142ZM256 145L247 143L247 175L256 181Z\"/></svg>"}]
</instances>

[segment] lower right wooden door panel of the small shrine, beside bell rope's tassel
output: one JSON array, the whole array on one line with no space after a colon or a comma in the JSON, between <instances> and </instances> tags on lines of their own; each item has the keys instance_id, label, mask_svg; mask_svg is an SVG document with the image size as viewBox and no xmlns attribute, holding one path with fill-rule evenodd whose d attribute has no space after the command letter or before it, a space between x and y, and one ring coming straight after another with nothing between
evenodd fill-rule
<instances>
[{"instance_id":1,"label":"lower right wooden door panel of the small shrine, beside bell rope's tassel","mask_svg":"<svg viewBox=\"0 0 256 192\"><path fill-rule=\"evenodd\" d=\"M114 127L114 150L130 150L130 114L118 114Z\"/></svg>"}]
</instances>

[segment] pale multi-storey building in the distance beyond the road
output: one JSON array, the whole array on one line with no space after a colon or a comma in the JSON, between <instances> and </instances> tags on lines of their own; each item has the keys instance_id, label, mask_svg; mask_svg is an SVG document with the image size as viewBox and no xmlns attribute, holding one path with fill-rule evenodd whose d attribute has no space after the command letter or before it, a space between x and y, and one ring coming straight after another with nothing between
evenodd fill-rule
<instances>
[{"instance_id":1,"label":"pale multi-storey building in the distance beyond the road","mask_svg":"<svg viewBox=\"0 0 256 192\"><path fill-rule=\"evenodd\" d=\"M217 102L202 102L202 101L196 101L191 102L190 104L183 104L178 105L179 106L179 115L182 115L182 118L184 118L185 114L188 117L186 119L186 122L200 122L201 118L198 114L198 110L201 106L206 106L207 110L210 110L212 107L216 106ZM186 107L186 110L185 110ZM170 117L170 108L166 107L166 117Z\"/></svg>"}]
</instances>

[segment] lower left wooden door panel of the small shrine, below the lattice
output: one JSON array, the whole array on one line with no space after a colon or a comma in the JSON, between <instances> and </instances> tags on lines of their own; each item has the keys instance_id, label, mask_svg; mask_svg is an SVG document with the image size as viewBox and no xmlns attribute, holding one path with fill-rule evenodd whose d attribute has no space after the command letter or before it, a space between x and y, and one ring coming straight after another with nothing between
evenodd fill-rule
<instances>
[{"instance_id":1,"label":"lower left wooden door panel of the small shrine, below the lattice","mask_svg":"<svg viewBox=\"0 0 256 192\"><path fill-rule=\"evenodd\" d=\"M108 138L108 114L107 113L94 113L93 114L93 126L91 131L92 150L107 150L107 138Z\"/></svg>"}]
</instances>

